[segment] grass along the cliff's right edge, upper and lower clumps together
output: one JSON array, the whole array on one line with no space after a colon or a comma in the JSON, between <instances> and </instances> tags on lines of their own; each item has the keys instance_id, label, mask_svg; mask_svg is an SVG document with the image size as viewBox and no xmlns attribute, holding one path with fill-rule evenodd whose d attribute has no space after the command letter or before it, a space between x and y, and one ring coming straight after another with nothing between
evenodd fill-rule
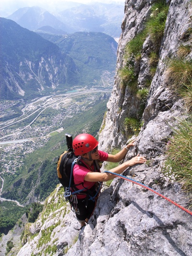
<instances>
[{"instance_id":1,"label":"grass along the cliff's right edge, upper and lower clumps together","mask_svg":"<svg viewBox=\"0 0 192 256\"><path fill-rule=\"evenodd\" d=\"M189 31L186 32L186 34ZM168 60L166 77L168 85L184 99L188 118L177 120L174 135L167 146L168 159L165 163L164 175L168 181L180 181L182 187L192 191L192 61L186 59L190 54L191 37L187 37L185 45L181 45L177 58ZM186 45L188 43L189 45ZM192 202L191 202L192 205Z\"/></svg>"}]
</instances>

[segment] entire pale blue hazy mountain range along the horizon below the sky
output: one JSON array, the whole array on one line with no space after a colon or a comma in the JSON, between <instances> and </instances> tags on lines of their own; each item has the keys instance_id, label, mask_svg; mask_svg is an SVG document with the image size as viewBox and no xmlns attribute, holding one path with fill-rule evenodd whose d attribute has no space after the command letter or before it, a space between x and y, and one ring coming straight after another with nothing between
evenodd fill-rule
<instances>
[{"instance_id":1,"label":"entire pale blue hazy mountain range along the horizon below the sky","mask_svg":"<svg viewBox=\"0 0 192 256\"><path fill-rule=\"evenodd\" d=\"M64 31L63 34L74 32L103 32L113 38L119 38L124 7L118 4L93 3L90 5L74 3L74 7L60 9L61 12L51 14L38 6L20 8L8 19L35 31L43 26ZM71 6L71 5L69 5Z\"/></svg>"}]
</instances>

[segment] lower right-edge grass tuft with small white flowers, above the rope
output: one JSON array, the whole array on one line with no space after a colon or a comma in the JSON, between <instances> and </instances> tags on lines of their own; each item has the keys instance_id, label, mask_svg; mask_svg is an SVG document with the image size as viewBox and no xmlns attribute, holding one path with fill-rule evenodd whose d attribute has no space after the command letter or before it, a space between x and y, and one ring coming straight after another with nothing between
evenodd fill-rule
<instances>
[{"instance_id":1,"label":"lower right-edge grass tuft with small white flowers, above the rope","mask_svg":"<svg viewBox=\"0 0 192 256\"><path fill-rule=\"evenodd\" d=\"M168 158L164 175L169 181L179 181L183 189L192 191L192 116L181 121L167 145Z\"/></svg>"}]
</instances>

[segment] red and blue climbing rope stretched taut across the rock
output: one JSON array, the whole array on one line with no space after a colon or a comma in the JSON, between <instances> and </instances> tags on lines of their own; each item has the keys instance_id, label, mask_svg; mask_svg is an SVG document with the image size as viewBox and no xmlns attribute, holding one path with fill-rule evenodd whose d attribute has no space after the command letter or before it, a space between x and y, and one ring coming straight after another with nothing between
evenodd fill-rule
<instances>
[{"instance_id":1,"label":"red and blue climbing rope stretched taut across the rock","mask_svg":"<svg viewBox=\"0 0 192 256\"><path fill-rule=\"evenodd\" d=\"M104 172L108 172L108 173L113 174L113 175L115 175L115 176L117 176L117 177L120 177L120 178L123 179L123 180L127 180L127 181L130 181L130 182L135 183L135 184L137 184L137 185L140 185L140 186L142 186L142 187L144 187L144 188L146 188L146 189L152 191L152 192L155 193L156 195L159 195L159 196L163 197L164 199L168 200L168 202L172 203L173 205L179 207L179 208L182 209L183 211L185 211L185 212L189 213L190 215L192 215L192 212L191 212L190 210L186 209L185 207L180 206L179 204L177 204L177 203L174 202L173 200L171 200L171 199L169 199L168 197L166 197L166 196L164 196L164 195L158 193L157 191L155 191L154 189L152 189L152 188L150 188L150 187L144 185L143 183L137 182L137 181L135 181L135 180L133 180L133 179L131 179L131 178L128 178L128 177L126 177L126 176L123 176L123 175L121 175L121 174L117 174L117 173L114 173L114 172L111 172L111 171L104 171Z\"/></svg>"}]
</instances>

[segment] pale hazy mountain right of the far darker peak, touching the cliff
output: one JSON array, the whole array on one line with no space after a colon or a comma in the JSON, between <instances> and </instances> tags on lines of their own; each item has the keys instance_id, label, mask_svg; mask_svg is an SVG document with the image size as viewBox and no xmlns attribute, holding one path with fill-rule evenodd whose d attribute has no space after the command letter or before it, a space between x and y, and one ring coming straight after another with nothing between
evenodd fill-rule
<instances>
[{"instance_id":1,"label":"pale hazy mountain right of the far darker peak, touching the cliff","mask_svg":"<svg viewBox=\"0 0 192 256\"><path fill-rule=\"evenodd\" d=\"M75 31L103 32L119 38L124 6L95 2L60 12L60 19Z\"/></svg>"}]
</instances>

